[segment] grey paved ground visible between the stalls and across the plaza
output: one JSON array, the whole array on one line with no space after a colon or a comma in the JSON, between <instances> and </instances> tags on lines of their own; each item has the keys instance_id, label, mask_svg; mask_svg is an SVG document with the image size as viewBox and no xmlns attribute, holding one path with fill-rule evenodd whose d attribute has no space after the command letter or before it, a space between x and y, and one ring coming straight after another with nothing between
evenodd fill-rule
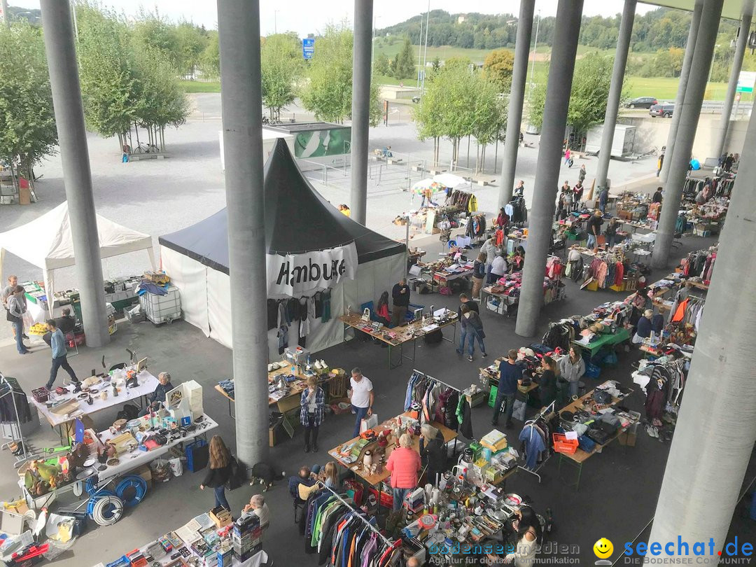
<instances>
[{"instance_id":1,"label":"grey paved ground visible between the stalls and across the plaza","mask_svg":"<svg viewBox=\"0 0 756 567\"><path fill-rule=\"evenodd\" d=\"M170 157L161 161L144 161L129 164L120 163L120 152L116 141L101 140L92 135L89 138L89 153L95 182L95 203L98 212L123 225L135 228L156 237L191 225L225 206L223 175L218 158L218 131L220 122L219 95L197 95L196 110L187 124L178 130L166 132L166 141ZM406 110L406 109L404 109ZM296 110L299 117L299 110ZM401 116L399 116L401 118ZM429 156L432 143L420 143L415 140L414 125L400 122L389 127L380 126L370 133L370 147L391 145L395 152L411 151L413 155ZM526 136L528 141L535 138ZM466 150L463 147L463 150ZM451 144L442 143L442 161L448 160ZM465 151L463 151L463 156ZM472 150L474 155L474 149ZM493 150L489 150L489 159ZM522 149L520 153L517 176L525 179L530 195L537 149ZM580 163L581 160L578 160ZM648 178L654 173L654 160L640 163L612 162L614 185L625 183L633 178ZM591 179L596 167L596 160L585 160L588 178ZM463 163L464 165L464 163ZM491 165L492 167L492 165ZM577 166L572 171L564 169L565 178L574 182L577 178ZM64 188L61 179L60 160L53 157L39 168L38 175L44 177L39 181L39 203L32 206L0 207L0 228L7 230L29 222L38 215L48 211L64 200ZM648 181L651 181L650 179ZM397 183L398 184L398 183ZM333 203L348 202L348 183L330 181L328 186L318 184L321 191ZM485 187L476 190L480 209L493 211L496 203L497 187ZM368 201L368 225L384 234L403 236L403 229L390 224L395 215L410 205L409 196L398 187L386 187L371 184ZM708 246L711 240L690 238L683 239L683 249L678 251L683 256L687 249ZM420 242L430 255L440 249L435 237ZM147 268L146 255L135 253L104 262L107 276L118 276L141 272ZM39 278L41 274L31 265L13 256L6 258L5 273L17 273L23 278ZM661 277L661 271L652 277ZM60 277L64 287L75 285L73 271L66 271ZM581 291L572 282L568 283L567 299L544 308L538 321L539 336L547 328L548 321L572 314L584 314L595 305L622 295L610 291L591 293ZM456 299L433 296L426 299L437 307L456 306ZM499 318L495 314L484 313L483 322L488 335L486 342L491 357L502 355L507 349L527 344L525 339L514 334L514 320ZM2 326L2 336L8 336L8 330ZM113 342L106 349L89 350L71 358L71 364L82 375L99 366L103 354L114 364L125 357L123 349L136 349L141 355L150 358L151 370L170 370L175 380L198 380L204 387L204 404L206 411L220 422L220 432L233 445L234 423L228 417L225 398L221 398L212 386L231 374L231 352L222 345L206 339L200 331L184 322L170 326L153 327L144 323L121 324ZM406 381L411 373L412 364L404 364L396 370L387 370L386 351L376 345L362 342L349 342L334 346L321 353L322 358L338 367L363 367L364 373L373 379L376 387L376 413L380 417L390 417L401 411ZM488 359L489 361L491 358ZM619 364L615 369L606 370L602 379L614 378L630 385L631 364L637 360L637 353L621 353ZM417 361L414 366L456 386L465 387L477 383L477 368L459 358L447 342L441 345L418 345ZM49 351L36 348L33 354L23 359L15 352L14 346L5 341L0 346L0 369L10 376L17 376L27 392L42 384L49 367ZM592 385L592 384L591 384ZM642 392L636 392L627 401L631 409L640 409L643 404ZM490 420L488 407L476 408L473 412L476 435L488 431ZM104 429L115 419L115 411L104 412L96 417L98 429ZM342 442L349 435L352 416L327 417L321 430L321 448L327 449ZM33 436L33 443L39 446L51 446L56 435L43 425ZM277 445L271 450L274 461L287 471L294 472L302 464L310 464L313 455L305 455L301 450L302 433L295 438ZM668 454L668 445L649 438L642 430L634 448L621 448L611 445L604 454L589 460L583 470L579 491L568 488L565 479L574 478L571 468L558 469L558 460L553 458L543 469L543 482L540 484L533 476L518 473L510 479L508 487L519 494L529 494L538 510L550 507L553 510L556 531L551 536L560 544L578 544L579 564L595 561L590 548L600 537L608 537L615 543L615 549L621 549L621 542L632 541L638 534L643 536L655 509L655 500L662 480ZM326 460L324 451L317 460ZM705 458L705 456L702 456ZM754 462L747 479L754 477ZM11 458L7 452L0 452L0 469L5 474L0 476L0 497L11 499L17 494ZM212 503L212 493L200 491L202 473L186 473L178 479L155 486L147 495L144 503L134 510L129 510L125 518L109 528L96 528L78 541L73 550L64 553L54 565L64 567L88 567L100 560L111 561L126 550L150 541L166 531L178 528L193 516L208 510ZM229 500L235 510L249 499L257 488L243 487L229 494ZM266 494L273 518L271 528L265 534L265 549L277 565L310 565L312 558L305 556L302 540L296 534L291 520L291 500L285 483L279 482ZM730 536L752 539L754 534L752 522L742 519L742 507L736 510ZM643 537L647 537L646 535Z\"/></svg>"}]
</instances>

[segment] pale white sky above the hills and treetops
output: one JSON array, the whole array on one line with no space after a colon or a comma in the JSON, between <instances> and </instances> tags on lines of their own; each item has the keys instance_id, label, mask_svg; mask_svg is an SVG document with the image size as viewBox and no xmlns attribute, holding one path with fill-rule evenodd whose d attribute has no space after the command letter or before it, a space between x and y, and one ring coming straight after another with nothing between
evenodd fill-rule
<instances>
[{"instance_id":1,"label":"pale white sky above the hills and treetops","mask_svg":"<svg viewBox=\"0 0 756 567\"><path fill-rule=\"evenodd\" d=\"M157 6L160 14L173 20L184 18L206 28L215 29L218 26L217 3L215 0L101 0L104 6L124 11L126 14L136 14L142 7L154 11ZM23 8L39 8L39 0L9 0L13 6ZM294 31L300 37L308 33L318 33L328 23L338 23L341 20L352 20L354 2L351 0L261 0L260 2L260 30L263 36L286 31ZM536 10L541 10L542 16L556 15L556 0L537 0ZM612 16L622 11L622 0L584 0L583 13L588 16ZM496 9L501 12L518 14L518 0L466 0L460 4L458 0L430 0L432 10L440 9L452 14L461 13L462 7L468 12L494 14ZM495 8L494 8L495 7ZM378 28L392 26L409 17L425 12L428 2L424 0L379 0L373 5L375 25ZM645 14L654 6L638 4L637 13Z\"/></svg>"}]
</instances>

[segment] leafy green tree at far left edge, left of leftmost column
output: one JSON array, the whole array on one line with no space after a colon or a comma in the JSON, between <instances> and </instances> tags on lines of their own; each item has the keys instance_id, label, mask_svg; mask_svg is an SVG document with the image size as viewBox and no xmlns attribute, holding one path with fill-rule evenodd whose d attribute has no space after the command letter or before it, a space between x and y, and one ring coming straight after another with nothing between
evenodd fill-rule
<instances>
[{"instance_id":1,"label":"leafy green tree at far left edge, left of leftmost column","mask_svg":"<svg viewBox=\"0 0 756 567\"><path fill-rule=\"evenodd\" d=\"M0 159L34 183L33 167L55 153L57 129L42 30L0 27ZM15 181L14 181L15 182Z\"/></svg>"}]
</instances>

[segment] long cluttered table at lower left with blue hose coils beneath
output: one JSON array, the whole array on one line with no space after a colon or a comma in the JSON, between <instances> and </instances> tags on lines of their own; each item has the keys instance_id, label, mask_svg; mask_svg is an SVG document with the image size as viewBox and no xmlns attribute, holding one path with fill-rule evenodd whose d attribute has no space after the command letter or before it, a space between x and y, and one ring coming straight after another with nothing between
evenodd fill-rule
<instances>
[{"instance_id":1,"label":"long cluttered table at lower left with blue hose coils beneath","mask_svg":"<svg viewBox=\"0 0 756 567\"><path fill-rule=\"evenodd\" d=\"M90 520L118 522L144 500L152 482L181 474L178 457L187 457L192 472L203 468L206 434L218 427L204 414L202 387L194 380L167 392L163 407L144 417L119 418L100 432L79 419L73 423L67 445L35 451L18 469L21 496L0 511L9 519L0 526L0 560L8 565L54 559L73 547Z\"/></svg>"}]
</instances>

